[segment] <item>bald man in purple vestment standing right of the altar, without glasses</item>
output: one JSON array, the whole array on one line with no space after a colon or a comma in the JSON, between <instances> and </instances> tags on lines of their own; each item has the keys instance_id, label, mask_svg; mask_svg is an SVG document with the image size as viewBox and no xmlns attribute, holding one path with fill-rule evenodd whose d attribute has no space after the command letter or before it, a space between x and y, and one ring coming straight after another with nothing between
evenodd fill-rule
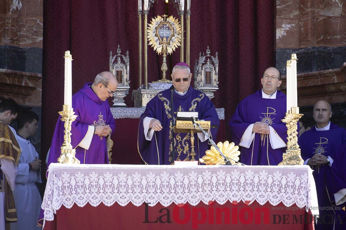
<instances>
[{"instance_id":1,"label":"bald man in purple vestment standing right of the altar, without glasses","mask_svg":"<svg viewBox=\"0 0 346 230\"><path fill-rule=\"evenodd\" d=\"M333 229L334 211L330 202L330 195L326 190L326 180L330 174L330 167L335 163L337 149L346 141L346 130L329 121L332 111L327 101L318 101L313 107L313 118L316 126L306 131L299 138L298 144L304 164L308 164L314 171L319 218L315 228ZM334 163L333 163L334 162ZM329 178L331 179L331 178Z\"/></svg>"}]
</instances>

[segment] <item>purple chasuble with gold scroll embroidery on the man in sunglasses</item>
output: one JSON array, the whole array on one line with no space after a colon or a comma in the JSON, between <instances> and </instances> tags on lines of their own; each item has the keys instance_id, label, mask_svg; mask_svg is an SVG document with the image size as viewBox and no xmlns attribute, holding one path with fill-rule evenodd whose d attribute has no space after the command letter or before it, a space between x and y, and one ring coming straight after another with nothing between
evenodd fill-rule
<instances>
[{"instance_id":1,"label":"purple chasuble with gold scroll embroidery on the man in sunglasses","mask_svg":"<svg viewBox=\"0 0 346 230\"><path fill-rule=\"evenodd\" d=\"M191 86L185 95L173 92L174 118L177 111L198 112L198 119L211 121L211 125L219 125L219 117L214 104L206 94L193 89ZM145 117L155 118L162 124L161 131L155 131L151 141L145 139L143 119ZM138 151L146 164L172 164L170 157L171 148L171 90L166 89L158 93L146 106L144 113L140 116L138 128ZM211 129L212 138L216 138L217 129ZM210 149L208 140L201 142L194 134L195 138L195 159L199 160L205 155L205 151ZM174 133L175 160L191 159L190 133Z\"/></svg>"}]
</instances>

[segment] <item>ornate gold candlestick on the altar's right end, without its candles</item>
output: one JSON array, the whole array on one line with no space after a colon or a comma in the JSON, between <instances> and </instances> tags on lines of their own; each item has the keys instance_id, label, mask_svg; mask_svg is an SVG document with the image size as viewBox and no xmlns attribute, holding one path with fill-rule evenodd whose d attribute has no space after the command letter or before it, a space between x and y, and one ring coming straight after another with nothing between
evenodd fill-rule
<instances>
[{"instance_id":1,"label":"ornate gold candlestick on the altar's right end, without its candles","mask_svg":"<svg viewBox=\"0 0 346 230\"><path fill-rule=\"evenodd\" d=\"M286 113L282 122L286 123L287 127L287 150L283 153L283 160L279 165L302 165L304 163L300 156L300 148L298 145L297 137L297 122L303 116L299 113L299 107L292 107L291 110Z\"/></svg>"}]
</instances>

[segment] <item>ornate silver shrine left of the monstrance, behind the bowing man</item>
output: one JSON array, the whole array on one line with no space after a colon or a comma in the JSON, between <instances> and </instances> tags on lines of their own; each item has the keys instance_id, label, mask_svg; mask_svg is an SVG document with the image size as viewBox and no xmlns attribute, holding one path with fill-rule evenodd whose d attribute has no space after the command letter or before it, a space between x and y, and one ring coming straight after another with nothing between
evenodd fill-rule
<instances>
[{"instance_id":1,"label":"ornate silver shrine left of the monstrance, behind the bowing man","mask_svg":"<svg viewBox=\"0 0 346 230\"><path fill-rule=\"evenodd\" d=\"M127 96L130 89L129 51L126 51L126 57L120 53L119 45L115 56L112 56L112 51L109 53L109 72L112 72L118 80L118 88L113 93L113 107L126 107L124 97Z\"/></svg>"}]
</instances>

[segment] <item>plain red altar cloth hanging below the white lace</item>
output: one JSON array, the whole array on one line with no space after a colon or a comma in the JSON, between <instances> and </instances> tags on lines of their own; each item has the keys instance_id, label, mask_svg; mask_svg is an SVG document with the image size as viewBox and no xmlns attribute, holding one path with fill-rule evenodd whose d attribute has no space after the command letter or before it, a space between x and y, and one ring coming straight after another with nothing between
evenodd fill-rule
<instances>
[{"instance_id":1,"label":"plain red altar cloth hanging below the white lace","mask_svg":"<svg viewBox=\"0 0 346 230\"><path fill-rule=\"evenodd\" d=\"M225 211L221 215L218 213L220 208ZM229 218L225 218L227 211L229 211L227 215ZM160 218L160 216L162 217ZM156 219L157 223L149 223L156 222ZM160 220L164 223L160 223ZM305 224L304 221L306 221ZM45 222L44 230L224 230L229 228L232 228L232 230L268 230L270 228L280 230L291 230L293 228L294 230L312 230L314 226L311 212L306 212L305 209L300 209L295 204L286 207L283 203L272 206L267 202L261 206L256 201L250 205L246 205L243 202L232 204L228 201L224 205L218 204L217 202L213 202L212 205L200 202L197 206L185 204L185 207L179 207L171 204L165 208L160 203L157 203L154 207L145 206L145 204L136 207L131 203L125 207L120 206L118 203L110 207L104 204L92 207L87 203L82 208L76 204L71 209L62 206L54 214L53 221Z\"/></svg>"}]
</instances>

